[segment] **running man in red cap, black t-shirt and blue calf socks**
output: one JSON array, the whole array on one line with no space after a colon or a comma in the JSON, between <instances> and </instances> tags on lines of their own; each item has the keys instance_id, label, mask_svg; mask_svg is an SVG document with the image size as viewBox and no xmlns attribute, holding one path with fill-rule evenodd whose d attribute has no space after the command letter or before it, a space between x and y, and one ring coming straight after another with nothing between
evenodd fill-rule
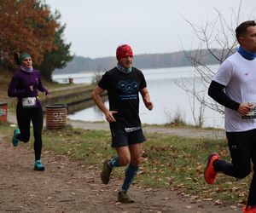
<instances>
[{"instance_id":1,"label":"running man in red cap, black t-shirt and blue calf socks","mask_svg":"<svg viewBox=\"0 0 256 213\"><path fill-rule=\"evenodd\" d=\"M112 147L117 156L105 160L101 172L102 182L108 184L114 167L126 166L125 181L119 191L118 200L123 203L135 202L127 191L137 175L143 141L146 141L139 118L139 92L148 110L153 109L143 72L132 67L133 53L129 45L120 45L116 51L117 66L106 72L91 97L105 114L110 125ZM108 91L109 110L105 107L101 94Z\"/></svg>"}]
</instances>

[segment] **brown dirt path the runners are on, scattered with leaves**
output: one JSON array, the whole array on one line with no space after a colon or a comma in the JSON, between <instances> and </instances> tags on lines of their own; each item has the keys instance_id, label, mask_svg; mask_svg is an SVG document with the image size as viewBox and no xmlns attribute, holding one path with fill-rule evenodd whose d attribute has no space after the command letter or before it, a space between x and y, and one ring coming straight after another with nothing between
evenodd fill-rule
<instances>
[{"instance_id":1,"label":"brown dirt path the runners are on, scattered with leaves","mask_svg":"<svg viewBox=\"0 0 256 213\"><path fill-rule=\"evenodd\" d=\"M116 196L121 182L103 185L98 168L44 151L46 170L34 171L32 147L12 147L5 138L0 135L0 212L234 212L170 190L138 185L131 187L137 203L120 204Z\"/></svg>"}]
</instances>

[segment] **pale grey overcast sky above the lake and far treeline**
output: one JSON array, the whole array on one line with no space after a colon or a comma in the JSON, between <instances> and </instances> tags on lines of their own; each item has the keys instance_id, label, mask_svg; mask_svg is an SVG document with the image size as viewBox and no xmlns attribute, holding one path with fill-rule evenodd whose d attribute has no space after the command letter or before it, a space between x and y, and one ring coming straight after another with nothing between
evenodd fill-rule
<instances>
[{"instance_id":1,"label":"pale grey overcast sky above the lake and far treeline","mask_svg":"<svg viewBox=\"0 0 256 213\"><path fill-rule=\"evenodd\" d=\"M72 54L96 58L115 55L120 43L130 44L135 55L193 49L198 40L185 20L204 26L217 17L217 9L230 21L240 0L45 2L52 11L60 11L61 24L67 25L65 39L72 43ZM255 20L255 14L256 1L243 0L240 20Z\"/></svg>"}]
</instances>

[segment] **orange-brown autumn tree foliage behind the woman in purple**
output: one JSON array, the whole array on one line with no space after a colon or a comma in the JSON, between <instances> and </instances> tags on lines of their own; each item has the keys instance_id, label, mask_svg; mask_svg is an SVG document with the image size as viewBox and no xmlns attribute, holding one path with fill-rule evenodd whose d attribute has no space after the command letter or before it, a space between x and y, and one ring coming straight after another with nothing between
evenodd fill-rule
<instances>
[{"instance_id":1,"label":"orange-brown autumn tree foliage behind the woman in purple","mask_svg":"<svg viewBox=\"0 0 256 213\"><path fill-rule=\"evenodd\" d=\"M44 52L55 49L59 24L50 19L47 5L38 0L0 0L0 65L15 67L12 52L19 49L40 64Z\"/></svg>"}]
</instances>

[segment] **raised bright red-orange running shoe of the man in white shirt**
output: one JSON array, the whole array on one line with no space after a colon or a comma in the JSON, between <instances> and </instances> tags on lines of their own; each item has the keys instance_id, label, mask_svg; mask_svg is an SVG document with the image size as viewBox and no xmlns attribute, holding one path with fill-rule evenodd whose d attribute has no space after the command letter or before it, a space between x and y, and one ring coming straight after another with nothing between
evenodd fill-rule
<instances>
[{"instance_id":1,"label":"raised bright red-orange running shoe of the man in white shirt","mask_svg":"<svg viewBox=\"0 0 256 213\"><path fill-rule=\"evenodd\" d=\"M214 170L213 162L219 159L218 153L211 153L207 157L207 166L205 168L204 176L208 184L214 184L217 172Z\"/></svg>"}]
</instances>

